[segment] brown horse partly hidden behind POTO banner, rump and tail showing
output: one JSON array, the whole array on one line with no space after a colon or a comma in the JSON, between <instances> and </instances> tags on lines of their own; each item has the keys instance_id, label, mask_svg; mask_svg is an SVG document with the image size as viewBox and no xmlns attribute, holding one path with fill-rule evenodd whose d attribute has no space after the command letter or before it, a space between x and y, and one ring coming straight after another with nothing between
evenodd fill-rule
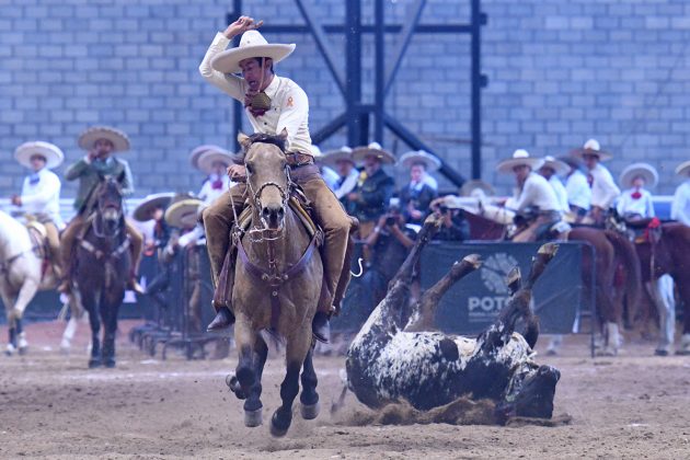
<instances>
[{"instance_id":1,"label":"brown horse partly hidden behind POTO banner, rump and tail showing","mask_svg":"<svg viewBox=\"0 0 690 460\"><path fill-rule=\"evenodd\" d=\"M506 234L505 226L502 230L499 223L486 217L464 210L464 215L470 222L470 234L480 237L490 235L487 239ZM595 273L595 299L597 319L602 333L602 354L614 355L620 345L619 325L623 319L623 295L628 302L629 312L634 314L640 303L640 262L635 254L633 244L620 233L612 230L597 229L593 227L576 227L567 235L568 241L582 241L588 243L595 251L585 250L583 255L583 281L585 286L591 286L593 267ZM622 283L624 284L623 295L614 286L616 273L619 266L623 266Z\"/></svg>"}]
</instances>

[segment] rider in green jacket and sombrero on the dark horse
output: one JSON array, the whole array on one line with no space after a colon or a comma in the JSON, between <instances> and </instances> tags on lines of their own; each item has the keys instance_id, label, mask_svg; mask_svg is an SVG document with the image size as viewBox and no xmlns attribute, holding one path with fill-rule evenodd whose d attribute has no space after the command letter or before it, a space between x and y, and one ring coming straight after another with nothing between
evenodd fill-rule
<instances>
[{"instance_id":1,"label":"rider in green jacket and sombrero on the dark horse","mask_svg":"<svg viewBox=\"0 0 690 460\"><path fill-rule=\"evenodd\" d=\"M79 180L79 191L77 192L77 198L74 198L77 216L74 216L62 232L61 255L65 276L62 277L62 284L58 287L60 292L70 290L71 274L69 271L72 248L74 240L82 233L87 219L93 210L91 209L92 203L90 203L91 195L99 186L101 179L104 176L115 177L122 187L123 196L131 195L134 192L129 164L125 160L112 156L113 152L129 150L129 138L125 133L108 126L94 126L81 134L79 137L79 147L87 150L87 156L71 164L65 171L65 179L68 181ZM129 280L127 287L138 294L142 294L143 290L137 283L136 273L141 257L143 238L126 219L125 225L131 243L129 250L133 261L133 268L128 274Z\"/></svg>"}]
</instances>

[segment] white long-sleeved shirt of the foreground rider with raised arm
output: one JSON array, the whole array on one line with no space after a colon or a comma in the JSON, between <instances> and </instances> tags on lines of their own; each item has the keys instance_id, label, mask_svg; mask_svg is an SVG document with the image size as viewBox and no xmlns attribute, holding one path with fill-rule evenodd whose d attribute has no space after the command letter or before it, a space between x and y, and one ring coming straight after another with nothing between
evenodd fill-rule
<instances>
[{"instance_id":1,"label":"white long-sleeved shirt of the foreground rider with raised arm","mask_svg":"<svg viewBox=\"0 0 690 460\"><path fill-rule=\"evenodd\" d=\"M219 72L211 67L211 59L225 51L230 41L223 34L217 33L199 65L199 72L210 84L244 103L244 95L249 91L249 85L244 79L235 74ZM310 149L309 99L307 93L292 80L276 74L274 74L265 93L271 97L271 110L264 115L255 117L249 108L244 110L254 133L275 136L285 128L288 133L286 145L288 151L299 151L313 156Z\"/></svg>"}]
</instances>

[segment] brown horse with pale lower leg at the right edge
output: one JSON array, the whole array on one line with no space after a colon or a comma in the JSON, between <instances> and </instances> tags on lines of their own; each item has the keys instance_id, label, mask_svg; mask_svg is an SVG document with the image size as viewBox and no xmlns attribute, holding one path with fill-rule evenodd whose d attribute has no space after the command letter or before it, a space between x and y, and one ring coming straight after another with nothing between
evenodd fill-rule
<instances>
[{"instance_id":1,"label":"brown horse with pale lower leg at the right edge","mask_svg":"<svg viewBox=\"0 0 690 460\"><path fill-rule=\"evenodd\" d=\"M640 221L634 227L646 227L648 220ZM679 355L690 354L690 227L679 222L666 222L657 229L647 231L646 242L635 244L642 267L642 279L654 281L662 275L670 275L678 286L678 292L685 306L681 347ZM668 309L668 306L664 306ZM662 311L662 317L674 318L674 312ZM662 322L665 323L664 318ZM672 343L674 321L668 326L667 340ZM665 329L665 324L662 324Z\"/></svg>"}]
</instances>

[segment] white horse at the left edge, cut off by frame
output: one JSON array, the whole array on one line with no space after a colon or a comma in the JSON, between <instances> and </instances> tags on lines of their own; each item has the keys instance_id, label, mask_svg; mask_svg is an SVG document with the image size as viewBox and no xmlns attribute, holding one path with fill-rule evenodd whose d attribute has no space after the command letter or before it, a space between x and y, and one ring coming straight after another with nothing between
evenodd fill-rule
<instances>
[{"instance_id":1,"label":"white horse at the left edge, cut off by frame","mask_svg":"<svg viewBox=\"0 0 690 460\"><path fill-rule=\"evenodd\" d=\"M20 354L26 353L24 310L36 291L51 289L57 283L50 264L44 265L45 235L41 234L39 226L30 223L30 227L0 210L0 295L8 318L7 355L18 349Z\"/></svg>"}]
</instances>

